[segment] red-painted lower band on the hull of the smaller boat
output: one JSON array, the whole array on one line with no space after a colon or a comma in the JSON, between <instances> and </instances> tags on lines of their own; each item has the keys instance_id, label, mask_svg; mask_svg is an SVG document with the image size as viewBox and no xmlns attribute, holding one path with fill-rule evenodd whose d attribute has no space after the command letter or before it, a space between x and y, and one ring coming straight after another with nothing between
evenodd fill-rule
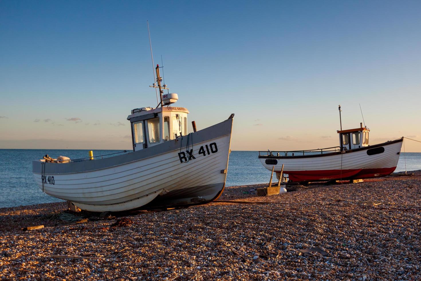
<instances>
[{"instance_id":1,"label":"red-painted lower band on the hull of the smaller boat","mask_svg":"<svg viewBox=\"0 0 421 281\"><path fill-rule=\"evenodd\" d=\"M294 182L329 180L329 179L367 179L392 174L396 167L377 169L284 171ZM277 171L278 173L280 171Z\"/></svg>"}]
</instances>

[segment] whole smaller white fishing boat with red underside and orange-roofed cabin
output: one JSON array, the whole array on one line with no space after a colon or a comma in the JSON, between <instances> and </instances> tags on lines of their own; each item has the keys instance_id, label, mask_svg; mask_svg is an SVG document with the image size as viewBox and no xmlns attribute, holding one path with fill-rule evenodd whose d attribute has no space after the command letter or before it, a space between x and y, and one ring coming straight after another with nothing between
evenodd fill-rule
<instances>
[{"instance_id":1,"label":"whole smaller white fishing boat with red underside and orange-roofed cabin","mask_svg":"<svg viewBox=\"0 0 421 281\"><path fill-rule=\"evenodd\" d=\"M339 112L341 107L339 106ZM403 137L393 141L369 145L366 126L337 131L337 147L314 150L259 151L263 166L283 174L291 182L308 182L341 179L365 179L392 174L396 169Z\"/></svg>"}]
</instances>

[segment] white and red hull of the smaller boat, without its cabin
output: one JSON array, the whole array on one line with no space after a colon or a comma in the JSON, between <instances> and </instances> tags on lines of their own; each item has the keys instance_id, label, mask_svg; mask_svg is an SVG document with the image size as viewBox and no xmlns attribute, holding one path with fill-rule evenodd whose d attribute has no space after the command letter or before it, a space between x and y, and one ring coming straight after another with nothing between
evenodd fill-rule
<instances>
[{"instance_id":1,"label":"white and red hull of the smaller boat, without its cabin","mask_svg":"<svg viewBox=\"0 0 421 281\"><path fill-rule=\"evenodd\" d=\"M266 169L272 171L274 166L278 174L284 164L283 172L293 182L382 177L396 169L402 140L345 150L342 153L259 158Z\"/></svg>"}]
</instances>

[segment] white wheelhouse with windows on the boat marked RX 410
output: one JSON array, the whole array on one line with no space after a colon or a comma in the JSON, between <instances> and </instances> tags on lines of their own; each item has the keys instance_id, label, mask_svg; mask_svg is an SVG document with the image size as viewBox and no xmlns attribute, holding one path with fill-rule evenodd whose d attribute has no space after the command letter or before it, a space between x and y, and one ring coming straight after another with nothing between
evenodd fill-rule
<instances>
[{"instance_id":1,"label":"white wheelhouse with windows on the boat marked RX 410","mask_svg":"<svg viewBox=\"0 0 421 281\"><path fill-rule=\"evenodd\" d=\"M133 151L187 135L187 113L184 107L171 107L177 94L163 94L162 107L141 107L131 111L130 120Z\"/></svg>"}]
</instances>

